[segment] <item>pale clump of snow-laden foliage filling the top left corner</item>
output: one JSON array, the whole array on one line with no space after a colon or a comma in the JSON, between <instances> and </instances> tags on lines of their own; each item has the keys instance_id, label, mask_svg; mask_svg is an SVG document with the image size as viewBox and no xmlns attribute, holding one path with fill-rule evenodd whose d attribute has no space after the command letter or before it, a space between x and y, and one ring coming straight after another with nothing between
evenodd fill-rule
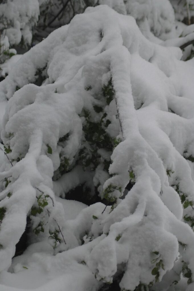
<instances>
[{"instance_id":1,"label":"pale clump of snow-laden foliage filling the top left corner","mask_svg":"<svg viewBox=\"0 0 194 291\"><path fill-rule=\"evenodd\" d=\"M0 1L0 76L5 73L1 64L17 53L12 47L21 42L31 44L32 27L38 18L38 0Z\"/></svg>"}]
</instances>

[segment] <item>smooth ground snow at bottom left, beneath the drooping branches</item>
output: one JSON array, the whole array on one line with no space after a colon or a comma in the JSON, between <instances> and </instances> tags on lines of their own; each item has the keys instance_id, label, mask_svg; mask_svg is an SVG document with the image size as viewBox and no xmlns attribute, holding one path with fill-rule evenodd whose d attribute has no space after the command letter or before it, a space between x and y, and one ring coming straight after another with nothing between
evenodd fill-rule
<instances>
[{"instance_id":1,"label":"smooth ground snow at bottom left, beneath the drooping branches","mask_svg":"<svg viewBox=\"0 0 194 291\"><path fill-rule=\"evenodd\" d=\"M86 205L73 200L56 199L62 203L65 216L64 219L75 219ZM56 263L54 261L56 261ZM81 262L70 261L66 256L61 264L59 258L53 257L53 248L48 242L32 244L25 253L13 259L9 272L0 274L1 290L62 290L61 288L72 288L71 290L95 290L97 282L91 272ZM53 263L55 267L53 267ZM52 266L52 268L51 268ZM65 273L65 276L63 275ZM73 275L72 275L73 274ZM76 281L74 279L76 276ZM93 285L93 287L89 287ZM63 286L63 287L62 287ZM12 287L12 288L11 288ZM92 289L93 288L93 289Z\"/></svg>"}]
</instances>

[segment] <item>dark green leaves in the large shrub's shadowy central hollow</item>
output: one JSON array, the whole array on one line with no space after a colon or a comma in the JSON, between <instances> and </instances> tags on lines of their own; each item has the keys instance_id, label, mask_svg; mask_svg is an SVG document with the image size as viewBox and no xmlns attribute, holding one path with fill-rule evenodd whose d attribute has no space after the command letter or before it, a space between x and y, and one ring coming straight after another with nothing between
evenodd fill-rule
<instances>
[{"instance_id":1,"label":"dark green leaves in the large shrub's shadowy central hollow","mask_svg":"<svg viewBox=\"0 0 194 291\"><path fill-rule=\"evenodd\" d=\"M91 90L91 86L88 86L85 90ZM102 87L100 101L98 96L96 104L93 105L93 110L97 113L97 121L92 118L93 113L88 111L88 109L83 108L81 112L81 116L84 117L83 141L78 157L84 171L95 171L99 164L103 164L104 171L108 172L111 160L102 158L99 155L98 150L103 148L107 152L112 152L121 141L120 139L112 138L106 131L106 128L111 124L111 121L107 118L107 113L104 112L104 107L109 105L113 98L114 89L112 79L110 79L108 84ZM103 162L102 159L104 160ZM97 188L98 187L96 187L96 189ZM105 197L112 200L112 202L115 200L108 197L106 193Z\"/></svg>"}]
</instances>

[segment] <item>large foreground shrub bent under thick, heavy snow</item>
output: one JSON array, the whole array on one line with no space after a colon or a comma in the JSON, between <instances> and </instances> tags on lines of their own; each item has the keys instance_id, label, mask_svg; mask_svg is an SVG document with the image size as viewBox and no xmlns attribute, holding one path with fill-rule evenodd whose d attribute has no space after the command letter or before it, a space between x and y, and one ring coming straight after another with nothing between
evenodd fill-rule
<instances>
[{"instance_id":1,"label":"large foreground shrub bent under thick, heavy snow","mask_svg":"<svg viewBox=\"0 0 194 291\"><path fill-rule=\"evenodd\" d=\"M113 280L123 291L193 290L194 70L180 58L108 6L86 9L20 58L0 83L9 100L1 271L29 216L29 244L49 241L57 253L49 263L45 253L46 270L76 262L83 280L94 274L88 290ZM107 202L66 221L56 196L80 184L88 204Z\"/></svg>"}]
</instances>

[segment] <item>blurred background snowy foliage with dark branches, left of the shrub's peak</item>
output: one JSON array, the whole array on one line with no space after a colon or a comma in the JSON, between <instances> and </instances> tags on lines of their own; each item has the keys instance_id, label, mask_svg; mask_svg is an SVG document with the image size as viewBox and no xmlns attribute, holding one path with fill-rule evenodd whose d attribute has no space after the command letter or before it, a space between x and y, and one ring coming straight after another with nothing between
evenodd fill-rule
<instances>
[{"instance_id":1,"label":"blurred background snowy foliage with dark branches, left of the shrub's peak","mask_svg":"<svg viewBox=\"0 0 194 291\"><path fill-rule=\"evenodd\" d=\"M67 3L62 0L1 0L0 77L8 74L8 67L18 61L19 56L6 62L17 51L28 50L32 42L40 42L54 29L69 23L76 13L84 11L86 4L83 3L75 0Z\"/></svg>"}]
</instances>

